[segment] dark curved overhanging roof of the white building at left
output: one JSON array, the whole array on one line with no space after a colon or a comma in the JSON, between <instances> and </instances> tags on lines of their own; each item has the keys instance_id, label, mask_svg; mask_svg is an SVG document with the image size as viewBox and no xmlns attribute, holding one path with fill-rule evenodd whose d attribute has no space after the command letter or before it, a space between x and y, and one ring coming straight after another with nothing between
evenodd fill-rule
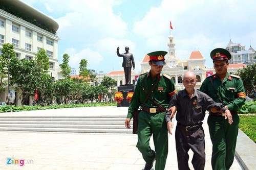
<instances>
[{"instance_id":1,"label":"dark curved overhanging roof of the white building at left","mask_svg":"<svg viewBox=\"0 0 256 170\"><path fill-rule=\"evenodd\" d=\"M47 16L46 14L38 11L37 9L29 6L28 4L20 0L1 0L0 5L8 6L13 10L13 12L21 13L32 20L35 19L37 22L42 23L42 25L48 26L54 31L57 31L59 28L58 23L53 18Z\"/></svg>"}]
</instances>

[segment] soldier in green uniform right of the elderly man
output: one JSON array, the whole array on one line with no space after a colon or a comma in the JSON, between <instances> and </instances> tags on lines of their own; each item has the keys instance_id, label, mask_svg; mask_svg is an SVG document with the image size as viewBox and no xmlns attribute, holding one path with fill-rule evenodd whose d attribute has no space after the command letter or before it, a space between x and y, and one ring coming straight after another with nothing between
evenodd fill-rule
<instances>
[{"instance_id":1,"label":"soldier in green uniform right of the elderly man","mask_svg":"<svg viewBox=\"0 0 256 170\"><path fill-rule=\"evenodd\" d=\"M218 112L211 110L207 120L212 142L211 166L214 170L228 170L233 163L236 150L239 116L237 110L245 102L245 89L239 76L227 72L230 53L216 48L210 53L214 62L215 75L207 77L200 91L208 94L215 102L223 103L232 114L232 124Z\"/></svg>"}]
</instances>

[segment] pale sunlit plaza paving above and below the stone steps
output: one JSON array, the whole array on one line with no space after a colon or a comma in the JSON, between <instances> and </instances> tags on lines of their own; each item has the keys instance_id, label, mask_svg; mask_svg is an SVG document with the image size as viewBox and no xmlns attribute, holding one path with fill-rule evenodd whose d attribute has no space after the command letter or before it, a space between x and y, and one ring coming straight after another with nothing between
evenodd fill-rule
<instances>
[{"instance_id":1,"label":"pale sunlit plaza paving above and below the stone steps","mask_svg":"<svg viewBox=\"0 0 256 170\"><path fill-rule=\"evenodd\" d=\"M126 113L127 107L87 107L0 114L3 116L125 116ZM203 122L206 141L205 169L211 169L211 141L206 120L207 117ZM0 136L0 169L134 170L143 169L145 164L140 152L135 147L137 135L134 134L0 131ZM151 145L154 149L152 140ZM191 152L189 153L191 155ZM189 162L191 162L191 156ZM191 163L190 168L194 169ZM169 135L169 151L165 169L178 169L174 135ZM240 169L243 168L235 159L230 170Z\"/></svg>"}]
</instances>

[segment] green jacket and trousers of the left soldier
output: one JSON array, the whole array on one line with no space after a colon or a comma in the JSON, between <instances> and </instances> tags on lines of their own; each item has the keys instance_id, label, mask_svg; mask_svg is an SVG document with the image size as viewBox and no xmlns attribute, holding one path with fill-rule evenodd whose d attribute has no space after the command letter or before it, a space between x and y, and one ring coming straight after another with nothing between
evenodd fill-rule
<instances>
[{"instance_id":1,"label":"green jacket and trousers of the left soldier","mask_svg":"<svg viewBox=\"0 0 256 170\"><path fill-rule=\"evenodd\" d=\"M162 73L153 79L150 71L140 75L137 81L127 118L132 118L133 111L137 110L143 104L146 99L144 90L146 89L148 93L156 83L158 84L155 86L149 98L154 99L163 108L168 107L170 97L176 92L174 81L170 76ZM146 100L143 106L145 108L159 108L151 100ZM138 142L136 147L142 153L142 157L147 164L151 164L156 159L156 170L164 169L168 153L168 133L164 117L165 111L150 113L142 109L138 118ZM155 151L150 147L152 134Z\"/></svg>"}]
</instances>

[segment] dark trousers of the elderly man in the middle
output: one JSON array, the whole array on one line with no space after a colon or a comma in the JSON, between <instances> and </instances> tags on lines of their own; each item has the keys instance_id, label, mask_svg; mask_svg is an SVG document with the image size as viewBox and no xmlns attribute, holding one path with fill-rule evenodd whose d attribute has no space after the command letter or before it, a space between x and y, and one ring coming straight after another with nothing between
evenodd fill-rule
<instances>
[{"instance_id":1,"label":"dark trousers of the elderly man in the middle","mask_svg":"<svg viewBox=\"0 0 256 170\"><path fill-rule=\"evenodd\" d=\"M195 170L204 170L205 166L205 141L204 130L200 126L191 131L176 127L175 131L176 152L180 170L189 170L188 151L194 152L192 164Z\"/></svg>"}]
</instances>

